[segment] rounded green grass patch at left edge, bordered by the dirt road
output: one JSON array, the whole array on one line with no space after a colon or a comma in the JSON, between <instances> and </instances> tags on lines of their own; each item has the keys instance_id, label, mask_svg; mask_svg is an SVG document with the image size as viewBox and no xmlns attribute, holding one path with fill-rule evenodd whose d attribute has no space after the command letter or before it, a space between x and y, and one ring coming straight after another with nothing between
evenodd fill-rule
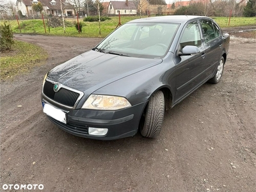
<instances>
[{"instance_id":1,"label":"rounded green grass patch at left edge, bordered by the dirt road","mask_svg":"<svg viewBox=\"0 0 256 192\"><path fill-rule=\"evenodd\" d=\"M15 41L12 51L1 52L1 80L28 72L47 59L47 52L33 44Z\"/></svg>"}]
</instances>

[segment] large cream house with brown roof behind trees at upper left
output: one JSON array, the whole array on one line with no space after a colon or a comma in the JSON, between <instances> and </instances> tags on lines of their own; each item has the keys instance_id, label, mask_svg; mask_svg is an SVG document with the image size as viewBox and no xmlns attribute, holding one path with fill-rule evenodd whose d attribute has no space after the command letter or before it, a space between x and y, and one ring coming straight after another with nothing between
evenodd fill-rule
<instances>
[{"instance_id":1,"label":"large cream house with brown roof behind trees at upper left","mask_svg":"<svg viewBox=\"0 0 256 192\"><path fill-rule=\"evenodd\" d=\"M64 15L75 15L74 6L68 3L67 0L17 0L15 6L17 7L17 10L22 12L22 15L31 17L36 14L35 11L33 11L32 6L38 2L42 3L44 8L43 12L47 13L47 15L61 15L61 6Z\"/></svg>"}]
</instances>

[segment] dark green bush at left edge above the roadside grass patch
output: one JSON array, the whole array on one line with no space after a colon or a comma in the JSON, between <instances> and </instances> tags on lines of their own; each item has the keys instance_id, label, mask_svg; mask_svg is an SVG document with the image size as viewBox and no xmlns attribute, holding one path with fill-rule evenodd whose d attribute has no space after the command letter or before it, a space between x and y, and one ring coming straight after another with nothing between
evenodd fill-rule
<instances>
[{"instance_id":1,"label":"dark green bush at left edge above the roadside grass patch","mask_svg":"<svg viewBox=\"0 0 256 192\"><path fill-rule=\"evenodd\" d=\"M0 25L0 51L12 49L13 33L10 24Z\"/></svg>"}]
</instances>

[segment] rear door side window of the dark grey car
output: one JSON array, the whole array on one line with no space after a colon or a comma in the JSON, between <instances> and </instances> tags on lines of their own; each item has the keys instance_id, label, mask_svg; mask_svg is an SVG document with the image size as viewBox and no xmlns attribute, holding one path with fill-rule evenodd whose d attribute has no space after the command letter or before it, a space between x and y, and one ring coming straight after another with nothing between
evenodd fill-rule
<instances>
[{"instance_id":1,"label":"rear door side window of the dark grey car","mask_svg":"<svg viewBox=\"0 0 256 192\"><path fill-rule=\"evenodd\" d=\"M204 34L204 40L205 42L210 42L211 40L214 40L216 38L216 34L214 33L214 26L211 22L211 20L200 20L203 34ZM219 31L220 35L220 31Z\"/></svg>"}]
</instances>

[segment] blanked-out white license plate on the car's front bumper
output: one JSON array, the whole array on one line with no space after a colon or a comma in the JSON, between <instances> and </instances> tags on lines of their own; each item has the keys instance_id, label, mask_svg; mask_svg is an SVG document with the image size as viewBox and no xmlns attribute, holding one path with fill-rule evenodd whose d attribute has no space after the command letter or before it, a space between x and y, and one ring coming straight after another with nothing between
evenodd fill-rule
<instances>
[{"instance_id":1,"label":"blanked-out white license plate on the car's front bumper","mask_svg":"<svg viewBox=\"0 0 256 192\"><path fill-rule=\"evenodd\" d=\"M46 113L46 115L51 116L52 118L64 124L67 124L67 115L65 112L61 111L61 109L54 108L53 106L44 103L43 111Z\"/></svg>"}]
</instances>

